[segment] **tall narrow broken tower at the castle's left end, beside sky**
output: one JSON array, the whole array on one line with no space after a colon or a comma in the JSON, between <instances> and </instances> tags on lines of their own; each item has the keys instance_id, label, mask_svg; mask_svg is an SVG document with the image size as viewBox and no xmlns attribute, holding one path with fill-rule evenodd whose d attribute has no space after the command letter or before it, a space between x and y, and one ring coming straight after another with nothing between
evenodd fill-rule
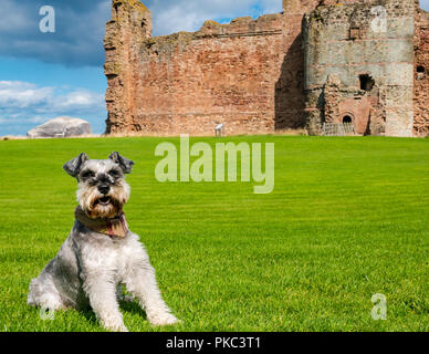
<instances>
[{"instance_id":1,"label":"tall narrow broken tower at the castle's left end, beside sky","mask_svg":"<svg viewBox=\"0 0 429 354\"><path fill-rule=\"evenodd\" d=\"M104 49L104 73L108 88L106 104L108 118L106 133L126 132L134 123L136 80L133 63L137 60L137 39L151 37L150 11L139 0L113 0L112 20L107 22Z\"/></svg>"}]
</instances>

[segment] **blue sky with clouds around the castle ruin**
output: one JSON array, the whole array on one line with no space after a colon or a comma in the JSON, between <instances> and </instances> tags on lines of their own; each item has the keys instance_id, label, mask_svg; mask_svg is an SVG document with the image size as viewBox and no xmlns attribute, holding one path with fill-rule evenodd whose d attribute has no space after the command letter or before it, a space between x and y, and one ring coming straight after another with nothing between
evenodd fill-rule
<instances>
[{"instance_id":1,"label":"blue sky with clouds around the castle ruin","mask_svg":"<svg viewBox=\"0 0 429 354\"><path fill-rule=\"evenodd\" d=\"M154 35L196 31L203 21L257 18L282 9L282 0L146 0ZM429 0L420 0L429 10ZM42 33L42 6L55 9L55 33ZM25 135L56 116L87 119L103 133L103 37L111 0L1 0L0 136Z\"/></svg>"}]
</instances>

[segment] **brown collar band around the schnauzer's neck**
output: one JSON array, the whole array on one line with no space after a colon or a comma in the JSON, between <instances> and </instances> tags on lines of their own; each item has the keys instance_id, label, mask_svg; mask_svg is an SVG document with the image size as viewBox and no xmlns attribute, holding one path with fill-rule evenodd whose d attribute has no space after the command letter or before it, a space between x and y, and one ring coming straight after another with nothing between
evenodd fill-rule
<instances>
[{"instance_id":1,"label":"brown collar band around the schnauzer's neck","mask_svg":"<svg viewBox=\"0 0 429 354\"><path fill-rule=\"evenodd\" d=\"M124 238L128 233L128 223L125 212L122 211L113 219L91 219L79 206L74 211L76 220L81 221L88 229L107 236Z\"/></svg>"}]
</instances>

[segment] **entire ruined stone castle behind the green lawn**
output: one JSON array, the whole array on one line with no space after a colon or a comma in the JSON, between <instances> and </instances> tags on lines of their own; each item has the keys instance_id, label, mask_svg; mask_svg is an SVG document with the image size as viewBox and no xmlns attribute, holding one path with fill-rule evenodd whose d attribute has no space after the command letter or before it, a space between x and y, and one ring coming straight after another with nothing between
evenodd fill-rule
<instances>
[{"instance_id":1,"label":"entire ruined stone castle behind the green lawn","mask_svg":"<svg viewBox=\"0 0 429 354\"><path fill-rule=\"evenodd\" d=\"M113 0L104 41L107 133L266 134L348 124L429 134L429 13L418 0L283 0L283 12L151 37Z\"/></svg>"}]
</instances>

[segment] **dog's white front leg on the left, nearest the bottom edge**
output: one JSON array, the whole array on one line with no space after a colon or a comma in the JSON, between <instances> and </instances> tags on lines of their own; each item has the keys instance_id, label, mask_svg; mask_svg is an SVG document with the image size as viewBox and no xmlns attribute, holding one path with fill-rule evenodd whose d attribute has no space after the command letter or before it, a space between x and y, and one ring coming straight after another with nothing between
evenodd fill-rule
<instances>
[{"instance_id":1,"label":"dog's white front leg on the left, nearest the bottom edge","mask_svg":"<svg viewBox=\"0 0 429 354\"><path fill-rule=\"evenodd\" d=\"M87 275L84 290L95 315L106 330L128 332L116 299L116 284L106 274Z\"/></svg>"}]
</instances>

